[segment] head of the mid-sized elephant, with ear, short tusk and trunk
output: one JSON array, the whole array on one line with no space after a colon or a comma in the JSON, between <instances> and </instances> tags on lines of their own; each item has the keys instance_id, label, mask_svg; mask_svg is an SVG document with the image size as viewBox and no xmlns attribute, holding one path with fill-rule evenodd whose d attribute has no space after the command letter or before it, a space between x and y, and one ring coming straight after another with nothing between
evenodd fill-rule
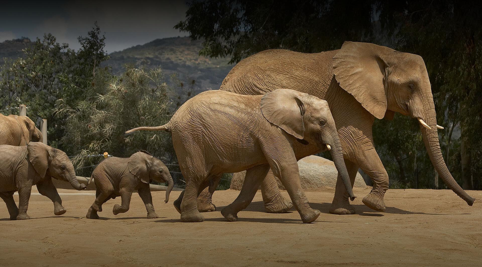
<instances>
[{"instance_id":1,"label":"head of the mid-sized elephant, with ear, short tusk and trunk","mask_svg":"<svg viewBox=\"0 0 482 267\"><path fill-rule=\"evenodd\" d=\"M313 142L321 149L328 148L350 199L355 199L335 121L325 100L291 89L276 89L261 98L261 112L302 144Z\"/></svg>"}]
</instances>

